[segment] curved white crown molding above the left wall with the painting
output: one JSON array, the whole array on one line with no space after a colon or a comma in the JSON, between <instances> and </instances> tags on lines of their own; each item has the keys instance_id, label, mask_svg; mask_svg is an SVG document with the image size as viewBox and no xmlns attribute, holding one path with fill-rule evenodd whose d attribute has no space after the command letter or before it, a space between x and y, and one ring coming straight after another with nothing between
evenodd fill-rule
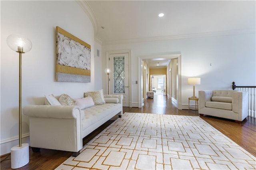
<instances>
[{"instance_id":1,"label":"curved white crown molding above the left wall with the painting","mask_svg":"<svg viewBox=\"0 0 256 170\"><path fill-rule=\"evenodd\" d=\"M97 35L98 34L98 22L97 22L96 15L94 14L92 8L88 4L88 2L85 0L76 0L76 2L78 3L78 5L80 5L82 10L84 10L84 12L87 14L90 21L92 22L92 26L94 29L94 36Z\"/></svg>"}]
</instances>

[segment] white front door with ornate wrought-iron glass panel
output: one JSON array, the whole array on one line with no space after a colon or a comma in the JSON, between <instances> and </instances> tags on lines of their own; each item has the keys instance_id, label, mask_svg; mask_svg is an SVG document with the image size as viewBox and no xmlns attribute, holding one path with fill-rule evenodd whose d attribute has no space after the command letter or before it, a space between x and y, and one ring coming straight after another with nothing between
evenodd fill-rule
<instances>
[{"instance_id":1,"label":"white front door with ornate wrought-iron glass panel","mask_svg":"<svg viewBox=\"0 0 256 170\"><path fill-rule=\"evenodd\" d=\"M109 67L109 94L124 95L123 106L129 107L129 53L110 54Z\"/></svg>"}]
</instances>

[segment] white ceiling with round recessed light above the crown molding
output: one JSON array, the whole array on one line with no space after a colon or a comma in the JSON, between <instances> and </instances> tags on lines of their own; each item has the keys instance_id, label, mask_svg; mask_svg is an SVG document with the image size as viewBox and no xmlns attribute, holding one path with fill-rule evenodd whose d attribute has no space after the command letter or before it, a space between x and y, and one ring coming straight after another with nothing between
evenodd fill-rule
<instances>
[{"instance_id":1,"label":"white ceiling with round recessed light above the crown molding","mask_svg":"<svg viewBox=\"0 0 256 170\"><path fill-rule=\"evenodd\" d=\"M106 45L255 33L256 29L255 0L92 0L86 4L94 17L96 39ZM159 13L164 17L159 18Z\"/></svg>"}]
</instances>

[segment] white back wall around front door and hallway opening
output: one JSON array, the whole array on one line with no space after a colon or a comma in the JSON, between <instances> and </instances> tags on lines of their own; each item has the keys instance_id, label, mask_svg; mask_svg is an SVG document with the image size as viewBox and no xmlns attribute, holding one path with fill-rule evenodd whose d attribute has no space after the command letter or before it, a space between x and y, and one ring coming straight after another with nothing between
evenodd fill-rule
<instances>
[{"instance_id":1,"label":"white back wall around front door and hallway opening","mask_svg":"<svg viewBox=\"0 0 256 170\"><path fill-rule=\"evenodd\" d=\"M232 89L236 85L256 85L255 34L241 34L213 38L157 41L102 45L102 65L106 65L106 51L131 49L131 81L138 80L138 57L168 54L180 51L182 62L182 105L188 104L193 87L187 84L188 77L201 77L198 90ZM212 66L210 66L212 63ZM103 84L106 89L106 84ZM138 103L138 85L131 87L132 103Z\"/></svg>"}]
</instances>

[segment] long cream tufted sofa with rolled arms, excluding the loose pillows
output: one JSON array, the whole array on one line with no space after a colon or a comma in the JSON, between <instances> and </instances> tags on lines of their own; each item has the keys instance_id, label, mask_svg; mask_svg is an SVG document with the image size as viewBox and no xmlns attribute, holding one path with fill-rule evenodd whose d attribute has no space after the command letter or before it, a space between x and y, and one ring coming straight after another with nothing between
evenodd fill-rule
<instances>
[{"instance_id":1,"label":"long cream tufted sofa with rolled arms, excluding the loose pillows","mask_svg":"<svg viewBox=\"0 0 256 170\"><path fill-rule=\"evenodd\" d=\"M64 150L74 152L73 156L77 156L85 136L115 115L122 117L123 95L104 95L104 99L105 104L83 110L78 106L25 106L23 113L29 116L32 150Z\"/></svg>"}]
</instances>

